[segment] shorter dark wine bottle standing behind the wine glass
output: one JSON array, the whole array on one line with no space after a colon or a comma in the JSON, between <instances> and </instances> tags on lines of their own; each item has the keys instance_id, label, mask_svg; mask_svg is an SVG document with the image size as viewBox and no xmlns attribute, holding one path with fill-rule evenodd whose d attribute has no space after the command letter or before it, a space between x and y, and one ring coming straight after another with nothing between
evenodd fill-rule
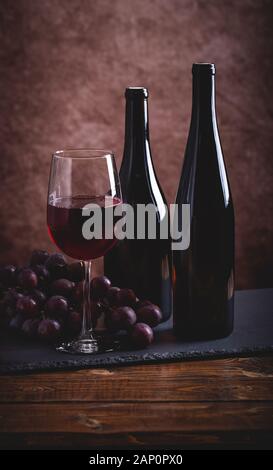
<instances>
[{"instance_id":1,"label":"shorter dark wine bottle standing behind the wine glass","mask_svg":"<svg viewBox=\"0 0 273 470\"><path fill-rule=\"evenodd\" d=\"M125 92L125 144L120 169L123 201L134 208L135 235L138 204L156 209L154 239L124 239L104 258L105 274L113 285L128 287L141 299L158 305L163 320L171 315L170 238L161 239L160 226L169 219L165 197L155 174L149 142L148 90L131 87Z\"/></svg>"}]
</instances>

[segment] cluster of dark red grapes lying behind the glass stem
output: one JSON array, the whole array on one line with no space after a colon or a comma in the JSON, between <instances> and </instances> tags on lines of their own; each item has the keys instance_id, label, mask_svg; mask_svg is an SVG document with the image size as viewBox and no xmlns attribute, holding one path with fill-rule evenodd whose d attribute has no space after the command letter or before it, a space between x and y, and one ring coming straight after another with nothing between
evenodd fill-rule
<instances>
[{"instance_id":1,"label":"cluster of dark red grapes lying behind the glass stem","mask_svg":"<svg viewBox=\"0 0 273 470\"><path fill-rule=\"evenodd\" d=\"M32 252L28 266L0 268L0 326L30 338L56 341L80 333L83 267L68 264L60 253ZM110 333L128 332L132 347L153 341L153 327L162 320L159 307L139 300L132 289L111 285L105 277L91 282L92 319L104 315Z\"/></svg>"}]
</instances>

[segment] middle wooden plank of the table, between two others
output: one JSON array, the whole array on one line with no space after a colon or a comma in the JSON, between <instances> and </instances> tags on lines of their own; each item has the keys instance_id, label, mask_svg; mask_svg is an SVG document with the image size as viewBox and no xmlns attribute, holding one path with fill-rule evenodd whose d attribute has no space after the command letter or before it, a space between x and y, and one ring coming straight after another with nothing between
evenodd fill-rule
<instances>
[{"instance_id":1,"label":"middle wooden plank of the table, between two others","mask_svg":"<svg viewBox=\"0 0 273 470\"><path fill-rule=\"evenodd\" d=\"M273 402L0 405L2 433L273 431Z\"/></svg>"}]
</instances>

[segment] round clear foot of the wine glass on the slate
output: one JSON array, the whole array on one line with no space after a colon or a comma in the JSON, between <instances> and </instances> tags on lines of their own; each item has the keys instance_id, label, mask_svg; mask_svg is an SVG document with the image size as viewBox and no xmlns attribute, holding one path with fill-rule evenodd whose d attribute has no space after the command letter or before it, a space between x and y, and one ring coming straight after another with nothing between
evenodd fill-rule
<instances>
[{"instance_id":1,"label":"round clear foot of the wine glass on the slate","mask_svg":"<svg viewBox=\"0 0 273 470\"><path fill-rule=\"evenodd\" d=\"M101 354L119 349L120 341L117 338L98 336L94 333L90 337L64 342L56 347L56 351L69 354Z\"/></svg>"}]
</instances>

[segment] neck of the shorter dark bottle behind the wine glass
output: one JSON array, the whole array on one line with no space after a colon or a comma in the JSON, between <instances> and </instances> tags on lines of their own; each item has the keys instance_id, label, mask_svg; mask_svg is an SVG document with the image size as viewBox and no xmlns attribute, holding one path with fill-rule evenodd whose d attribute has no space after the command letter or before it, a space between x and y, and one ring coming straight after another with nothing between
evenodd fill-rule
<instances>
[{"instance_id":1,"label":"neck of the shorter dark bottle behind the wine glass","mask_svg":"<svg viewBox=\"0 0 273 470\"><path fill-rule=\"evenodd\" d=\"M126 99L124 157L143 162L149 141L148 101L144 97Z\"/></svg>"}]
</instances>

